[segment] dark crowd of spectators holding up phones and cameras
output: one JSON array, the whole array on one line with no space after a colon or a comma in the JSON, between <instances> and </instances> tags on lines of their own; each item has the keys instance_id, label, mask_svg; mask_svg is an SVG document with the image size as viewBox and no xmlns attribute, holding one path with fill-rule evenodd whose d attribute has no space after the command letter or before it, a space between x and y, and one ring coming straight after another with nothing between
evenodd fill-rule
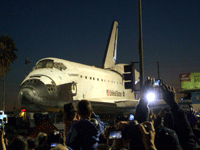
<instances>
[{"instance_id":1,"label":"dark crowd of spectators holding up phones and cameras","mask_svg":"<svg viewBox=\"0 0 200 150\"><path fill-rule=\"evenodd\" d=\"M117 118L113 126L105 128L100 117L93 112L87 100L77 107L64 105L64 132L39 133L37 138L17 135L10 141L0 130L2 150L194 150L200 144L198 120L184 112L176 102L175 89L165 83L160 85L163 108L156 116L149 110L146 93L153 89L154 79L148 78L136 106L134 120ZM112 133L112 136L111 136ZM114 136L116 133L116 136Z\"/></svg>"}]
</instances>

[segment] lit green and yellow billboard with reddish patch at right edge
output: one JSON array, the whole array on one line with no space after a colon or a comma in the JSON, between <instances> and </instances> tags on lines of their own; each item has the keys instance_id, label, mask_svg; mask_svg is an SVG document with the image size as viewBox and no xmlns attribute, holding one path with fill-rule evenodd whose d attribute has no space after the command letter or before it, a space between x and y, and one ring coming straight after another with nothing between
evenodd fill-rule
<instances>
[{"instance_id":1,"label":"lit green and yellow billboard with reddish patch at right edge","mask_svg":"<svg viewBox=\"0 0 200 150\"><path fill-rule=\"evenodd\" d=\"M200 72L180 74L182 90L200 90Z\"/></svg>"}]
</instances>

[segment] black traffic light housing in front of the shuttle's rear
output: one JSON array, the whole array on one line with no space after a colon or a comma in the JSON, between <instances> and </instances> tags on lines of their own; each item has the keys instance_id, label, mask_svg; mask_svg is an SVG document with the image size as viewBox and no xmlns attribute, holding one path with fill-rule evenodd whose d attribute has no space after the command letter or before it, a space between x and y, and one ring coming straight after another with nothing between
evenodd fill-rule
<instances>
[{"instance_id":1,"label":"black traffic light housing in front of the shuttle's rear","mask_svg":"<svg viewBox=\"0 0 200 150\"><path fill-rule=\"evenodd\" d=\"M126 65L124 66L124 86L125 89L135 89L135 66Z\"/></svg>"}]
</instances>

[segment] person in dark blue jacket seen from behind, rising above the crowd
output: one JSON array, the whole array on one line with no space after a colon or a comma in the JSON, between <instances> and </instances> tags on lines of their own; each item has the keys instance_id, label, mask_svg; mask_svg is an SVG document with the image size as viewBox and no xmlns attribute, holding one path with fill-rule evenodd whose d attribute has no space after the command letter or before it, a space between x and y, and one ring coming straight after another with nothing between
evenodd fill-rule
<instances>
[{"instance_id":1,"label":"person in dark blue jacket seen from behind, rising above the crowd","mask_svg":"<svg viewBox=\"0 0 200 150\"><path fill-rule=\"evenodd\" d=\"M87 100L81 100L77 110L81 119L68 131L66 145L73 150L95 150L99 136L104 131L104 123L93 112L91 103Z\"/></svg>"}]
</instances>

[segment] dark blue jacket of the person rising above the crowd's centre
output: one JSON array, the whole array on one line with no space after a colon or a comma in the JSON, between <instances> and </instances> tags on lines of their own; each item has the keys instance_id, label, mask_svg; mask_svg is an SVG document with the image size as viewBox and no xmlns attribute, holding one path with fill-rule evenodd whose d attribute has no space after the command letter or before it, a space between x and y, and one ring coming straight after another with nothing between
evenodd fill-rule
<instances>
[{"instance_id":1,"label":"dark blue jacket of the person rising above the crowd's centre","mask_svg":"<svg viewBox=\"0 0 200 150\"><path fill-rule=\"evenodd\" d=\"M93 113L90 121L81 119L71 126L66 135L66 145L73 150L95 150L102 132L104 123Z\"/></svg>"}]
</instances>

